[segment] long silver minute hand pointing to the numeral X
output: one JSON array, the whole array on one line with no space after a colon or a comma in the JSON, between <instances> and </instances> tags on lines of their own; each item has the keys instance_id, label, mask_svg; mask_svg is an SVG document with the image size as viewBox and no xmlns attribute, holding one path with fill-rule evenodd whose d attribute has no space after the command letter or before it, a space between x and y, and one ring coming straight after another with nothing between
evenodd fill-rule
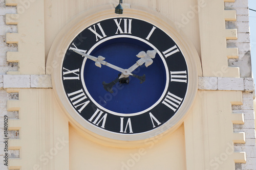
<instances>
[{"instance_id":1,"label":"long silver minute hand pointing to the numeral X","mask_svg":"<svg viewBox=\"0 0 256 170\"><path fill-rule=\"evenodd\" d=\"M95 61L95 65L98 66L98 67L101 67L101 64L102 64L102 65L106 65L106 66L108 66L108 67L110 67L110 68L113 68L113 69L115 69L115 70L117 70L117 71L120 71L120 72L121 72L122 74L124 74L125 76L133 75L133 74L131 74L131 72L130 72L129 70L127 70L127 69L120 68L120 67L118 67L118 66L115 66L115 65L113 65L113 64L110 64L110 63L104 61L105 58L102 57L102 56L94 57L94 56L85 54L85 53L81 52L81 50L79 50L79 49L77 49L77 48L73 48L73 47L70 47L69 49L70 49L70 50L73 50L74 52L76 52L77 54L80 54L80 55L83 56L83 57L86 57L86 58L89 58L89 59Z\"/></svg>"}]
</instances>

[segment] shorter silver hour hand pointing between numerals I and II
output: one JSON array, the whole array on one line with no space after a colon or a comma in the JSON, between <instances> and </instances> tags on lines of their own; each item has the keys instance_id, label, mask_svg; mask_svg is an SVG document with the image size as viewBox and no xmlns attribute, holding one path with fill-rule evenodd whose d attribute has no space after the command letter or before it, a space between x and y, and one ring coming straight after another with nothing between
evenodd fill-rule
<instances>
[{"instance_id":1,"label":"shorter silver hour hand pointing between numerals I and II","mask_svg":"<svg viewBox=\"0 0 256 170\"><path fill-rule=\"evenodd\" d=\"M143 65L145 63L145 66L148 67L153 63L153 58L155 58L157 51L156 50L148 50L146 53L145 52L140 52L137 57L141 58L139 59L133 66L128 68L129 72L133 72L136 68L139 66Z\"/></svg>"}]
</instances>

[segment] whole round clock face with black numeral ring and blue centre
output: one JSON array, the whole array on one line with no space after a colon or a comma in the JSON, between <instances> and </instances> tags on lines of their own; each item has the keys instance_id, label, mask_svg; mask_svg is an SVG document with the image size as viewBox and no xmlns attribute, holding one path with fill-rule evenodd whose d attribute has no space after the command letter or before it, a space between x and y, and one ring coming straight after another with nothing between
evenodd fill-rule
<instances>
[{"instance_id":1,"label":"whole round clock face with black numeral ring and blue centre","mask_svg":"<svg viewBox=\"0 0 256 170\"><path fill-rule=\"evenodd\" d=\"M188 89L182 49L149 22L108 18L82 30L62 62L74 111L97 131L142 134L179 113Z\"/></svg>"}]
</instances>

